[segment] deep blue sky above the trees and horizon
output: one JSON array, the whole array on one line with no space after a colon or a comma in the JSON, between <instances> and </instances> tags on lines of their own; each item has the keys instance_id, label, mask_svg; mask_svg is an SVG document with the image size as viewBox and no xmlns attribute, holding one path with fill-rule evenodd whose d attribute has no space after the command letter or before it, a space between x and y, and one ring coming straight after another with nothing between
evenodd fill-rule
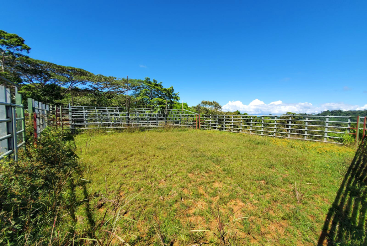
<instances>
[{"instance_id":1,"label":"deep blue sky above the trees and horizon","mask_svg":"<svg viewBox=\"0 0 367 246\"><path fill-rule=\"evenodd\" d=\"M189 105L216 100L266 113L367 104L367 1L16 1L2 9L0 29L23 37L31 57L155 78Z\"/></svg>"}]
</instances>

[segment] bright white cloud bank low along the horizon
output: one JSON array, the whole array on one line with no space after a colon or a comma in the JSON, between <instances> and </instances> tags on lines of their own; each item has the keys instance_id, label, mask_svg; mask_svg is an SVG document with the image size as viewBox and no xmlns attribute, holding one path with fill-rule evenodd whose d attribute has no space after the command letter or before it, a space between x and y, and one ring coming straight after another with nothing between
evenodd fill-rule
<instances>
[{"instance_id":1,"label":"bright white cloud bank low along the horizon","mask_svg":"<svg viewBox=\"0 0 367 246\"><path fill-rule=\"evenodd\" d=\"M282 101L271 102L269 104L260 101L259 99L253 100L248 105L243 104L241 101L229 101L222 106L223 111L236 111L248 114L285 114L287 112L293 113L321 113L326 110L364 110L367 109L367 104L364 106L351 105L345 103L324 103L320 106L314 106L312 103L283 103Z\"/></svg>"}]
</instances>

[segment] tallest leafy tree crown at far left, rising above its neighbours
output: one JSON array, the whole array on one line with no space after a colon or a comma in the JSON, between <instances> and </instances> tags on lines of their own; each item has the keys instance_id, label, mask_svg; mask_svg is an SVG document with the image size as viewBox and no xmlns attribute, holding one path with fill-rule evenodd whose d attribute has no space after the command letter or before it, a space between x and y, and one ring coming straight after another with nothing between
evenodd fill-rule
<instances>
[{"instance_id":1,"label":"tallest leafy tree crown at far left, rising above its neighbours","mask_svg":"<svg viewBox=\"0 0 367 246\"><path fill-rule=\"evenodd\" d=\"M5 73L9 63L14 63L16 58L24 56L22 53L29 53L30 47L25 40L14 33L7 33L0 30L0 62L1 72Z\"/></svg>"}]
</instances>

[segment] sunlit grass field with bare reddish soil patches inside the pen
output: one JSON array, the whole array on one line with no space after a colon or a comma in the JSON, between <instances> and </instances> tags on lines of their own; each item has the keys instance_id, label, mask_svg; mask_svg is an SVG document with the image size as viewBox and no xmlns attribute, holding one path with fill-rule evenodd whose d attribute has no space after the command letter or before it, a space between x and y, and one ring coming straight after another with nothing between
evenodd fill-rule
<instances>
[{"instance_id":1,"label":"sunlit grass field with bare reddish soil patches inside the pen","mask_svg":"<svg viewBox=\"0 0 367 246\"><path fill-rule=\"evenodd\" d=\"M115 226L131 245L219 245L218 210L225 224L246 217L220 230L230 245L315 245L355 153L198 130L80 134L75 141L88 181L75 188L83 202L72 226L99 228L137 195L121 209L136 222L120 218Z\"/></svg>"}]
</instances>

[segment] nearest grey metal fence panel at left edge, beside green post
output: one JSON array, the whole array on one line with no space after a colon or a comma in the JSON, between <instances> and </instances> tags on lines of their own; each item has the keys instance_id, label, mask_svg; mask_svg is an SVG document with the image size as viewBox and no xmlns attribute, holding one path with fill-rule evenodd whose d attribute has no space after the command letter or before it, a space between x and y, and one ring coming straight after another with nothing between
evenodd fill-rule
<instances>
[{"instance_id":1,"label":"nearest grey metal fence panel at left edge, beside green post","mask_svg":"<svg viewBox=\"0 0 367 246\"><path fill-rule=\"evenodd\" d=\"M1 79L6 85L0 85L0 160L12 155L17 161L18 149L25 149L24 106L17 85L2 77ZM15 87L14 93L11 91L11 85Z\"/></svg>"}]
</instances>

